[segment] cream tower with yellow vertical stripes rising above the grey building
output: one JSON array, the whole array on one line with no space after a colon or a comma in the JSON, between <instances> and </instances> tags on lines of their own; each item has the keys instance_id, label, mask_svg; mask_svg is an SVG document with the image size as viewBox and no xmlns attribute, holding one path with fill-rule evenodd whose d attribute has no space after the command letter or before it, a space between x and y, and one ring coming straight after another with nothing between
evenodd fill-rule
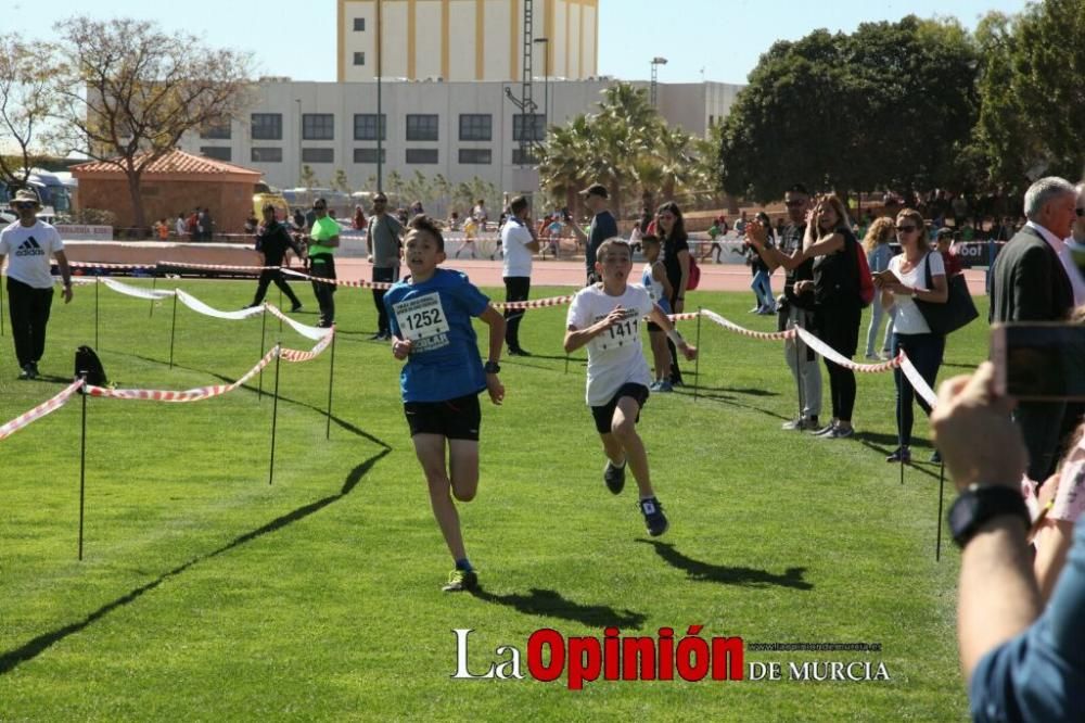
<instances>
[{"instance_id":1,"label":"cream tower with yellow vertical stripes rising above the grey building","mask_svg":"<svg viewBox=\"0 0 1085 723\"><path fill-rule=\"evenodd\" d=\"M337 0L340 83L519 80L525 0ZM599 74L599 0L533 0L533 75Z\"/></svg>"}]
</instances>

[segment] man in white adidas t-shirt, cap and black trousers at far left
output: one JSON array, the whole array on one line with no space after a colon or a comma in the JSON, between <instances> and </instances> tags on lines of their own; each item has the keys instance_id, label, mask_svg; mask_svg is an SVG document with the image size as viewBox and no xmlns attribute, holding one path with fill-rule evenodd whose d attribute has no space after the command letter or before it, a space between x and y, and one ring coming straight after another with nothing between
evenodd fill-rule
<instances>
[{"instance_id":1,"label":"man in white adidas t-shirt, cap and black trousers at far left","mask_svg":"<svg viewBox=\"0 0 1085 723\"><path fill-rule=\"evenodd\" d=\"M15 194L11 207L18 220L0 231L0 266L8 264L8 310L20 379L35 379L38 363L46 351L46 325L53 304L53 277L50 256L64 278L64 303L72 301L72 272L64 255L64 242L55 228L38 220L41 207L31 190Z\"/></svg>"}]
</instances>

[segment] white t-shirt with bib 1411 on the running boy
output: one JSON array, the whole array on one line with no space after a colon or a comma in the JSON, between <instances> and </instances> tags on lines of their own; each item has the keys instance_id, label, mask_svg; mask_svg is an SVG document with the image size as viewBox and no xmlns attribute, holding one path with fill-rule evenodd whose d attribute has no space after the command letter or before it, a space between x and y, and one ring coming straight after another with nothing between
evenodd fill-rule
<instances>
[{"instance_id":1,"label":"white t-shirt with bib 1411 on the running boy","mask_svg":"<svg viewBox=\"0 0 1085 723\"><path fill-rule=\"evenodd\" d=\"M588 383L585 398L588 406L610 403L623 384L652 383L648 362L640 345L640 324L651 313L651 297L643 287L630 283L621 296L611 296L601 283L577 292L569 307L565 326L586 329L607 318L617 306L629 317L588 342Z\"/></svg>"}]
</instances>

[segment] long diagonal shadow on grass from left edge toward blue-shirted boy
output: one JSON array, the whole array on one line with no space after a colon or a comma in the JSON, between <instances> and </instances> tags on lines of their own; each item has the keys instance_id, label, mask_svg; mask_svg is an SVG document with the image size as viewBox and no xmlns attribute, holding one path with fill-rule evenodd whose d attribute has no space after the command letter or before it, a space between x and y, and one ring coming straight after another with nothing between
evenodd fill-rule
<instances>
[{"instance_id":1,"label":"long diagonal shadow on grass from left edge toward blue-shirted boy","mask_svg":"<svg viewBox=\"0 0 1085 723\"><path fill-rule=\"evenodd\" d=\"M251 530L242 535L234 537L233 540L231 540L230 542L222 545L216 550L207 553L206 555L194 557L188 562L179 565L173 570L163 573L162 575L159 575L155 580L152 580L145 585L140 585L139 587L129 591L128 593L122 595L115 600L106 602L105 605L98 608L97 610L94 610L93 612L91 612L90 614L88 614L86 618L84 618L78 622L69 623L67 625L64 625L63 627L58 627L56 630L43 633L37 636L36 638L21 645L17 648L0 654L0 675L10 673L12 670L21 665L22 663L37 658L39 655L41 655L50 647L52 647L52 645L54 645L55 643L60 643L69 635L74 635L75 633L81 632L82 630L89 627L91 624L98 622L99 620L110 614L114 610L123 608L124 606L130 602L135 602L144 594L155 589L156 587L162 585L162 583L166 582L170 578L177 578L178 575L187 572L189 569L200 565L201 562L214 559L219 555L225 555L226 553L229 553L230 550L240 547L244 544L251 543L254 540L263 537L264 535L278 532L279 530L282 530L283 528L291 525L294 522L299 522L301 520L304 520L310 515L319 512L329 505L332 505L339 502L340 499L343 499L348 494L350 494L356 486L358 486L358 483L361 481L361 479L369 472L369 470L373 468L373 466L376 462L381 460L381 458L387 455L388 452L391 452L391 449L382 449L374 456L370 457L369 459L367 459L366 461L361 462L353 470L350 470L349 474L347 474L346 479L343 481L343 486L340 489L339 493L333 495L328 495L327 497L321 497L320 499L311 502L308 505L303 505L302 507L298 507L295 510L292 510L290 512L286 512L285 515L275 518L267 524L263 524L256 528L255 530Z\"/></svg>"}]
</instances>

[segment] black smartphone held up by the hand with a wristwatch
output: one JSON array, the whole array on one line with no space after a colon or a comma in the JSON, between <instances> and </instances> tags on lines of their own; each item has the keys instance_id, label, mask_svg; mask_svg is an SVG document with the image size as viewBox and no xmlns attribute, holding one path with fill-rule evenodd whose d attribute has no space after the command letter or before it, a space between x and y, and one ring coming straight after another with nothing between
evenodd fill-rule
<instances>
[{"instance_id":1,"label":"black smartphone held up by the hand with a wristwatch","mask_svg":"<svg viewBox=\"0 0 1085 723\"><path fill-rule=\"evenodd\" d=\"M1085 401L1085 327L1033 322L991 329L995 391L1018 399Z\"/></svg>"}]
</instances>

